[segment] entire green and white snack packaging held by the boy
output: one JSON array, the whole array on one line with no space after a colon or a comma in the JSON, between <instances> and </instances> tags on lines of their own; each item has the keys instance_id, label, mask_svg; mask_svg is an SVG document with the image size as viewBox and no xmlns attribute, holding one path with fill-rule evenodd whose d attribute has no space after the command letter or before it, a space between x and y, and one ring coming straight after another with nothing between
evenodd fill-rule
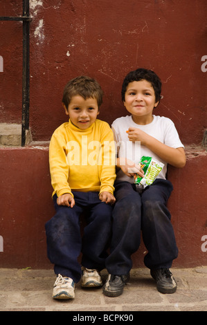
<instances>
[{"instance_id":1,"label":"entire green and white snack packaging held by the boy","mask_svg":"<svg viewBox=\"0 0 207 325\"><path fill-rule=\"evenodd\" d=\"M149 158L151 158L151 159L149 159ZM145 171L145 169L144 169L145 167L142 167L142 161L143 161L143 163L145 163L146 160L148 160L148 161L150 160L150 164L147 165L147 163L146 163L147 169ZM140 165L141 165L141 168L143 168L143 170L145 172L145 176L143 178L141 178L140 176L135 176L134 181L136 184L139 184L142 188L145 188L147 185L151 185L154 182L156 176L158 176L158 174L161 172L161 170L164 167L164 164L161 163L160 161L158 161L152 157L145 157L145 156L143 156L141 158Z\"/></svg>"}]
</instances>

